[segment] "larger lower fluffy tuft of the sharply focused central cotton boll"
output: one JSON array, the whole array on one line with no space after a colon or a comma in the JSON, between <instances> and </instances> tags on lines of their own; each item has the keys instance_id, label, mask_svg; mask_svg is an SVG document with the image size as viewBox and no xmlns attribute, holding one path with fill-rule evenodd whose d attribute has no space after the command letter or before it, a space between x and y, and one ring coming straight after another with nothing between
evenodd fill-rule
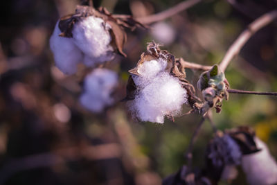
<instances>
[{"instance_id":1,"label":"larger lower fluffy tuft of the sharply focused central cotton boll","mask_svg":"<svg viewBox=\"0 0 277 185\"><path fill-rule=\"evenodd\" d=\"M141 121L163 123L164 116L181 112L186 93L177 78L162 72L136 95L132 109Z\"/></svg>"}]
</instances>

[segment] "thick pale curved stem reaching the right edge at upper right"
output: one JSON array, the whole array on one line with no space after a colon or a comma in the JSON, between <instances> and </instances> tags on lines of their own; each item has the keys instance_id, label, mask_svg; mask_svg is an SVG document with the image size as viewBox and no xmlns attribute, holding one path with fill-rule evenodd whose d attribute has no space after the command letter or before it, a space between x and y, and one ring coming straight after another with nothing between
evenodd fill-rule
<instances>
[{"instance_id":1,"label":"thick pale curved stem reaching the right edge at upper right","mask_svg":"<svg viewBox=\"0 0 277 185\"><path fill-rule=\"evenodd\" d=\"M220 62L220 68L222 71L225 71L228 64L234 58L235 55L240 53L242 46L249 40L249 38L254 35L260 28L267 26L267 24L271 23L277 17L277 10L273 10L271 12L267 12L265 15L262 15L251 24L249 24L248 28L244 30L240 36L235 40L235 42L230 46L228 51L226 52L222 62Z\"/></svg>"}]
</instances>

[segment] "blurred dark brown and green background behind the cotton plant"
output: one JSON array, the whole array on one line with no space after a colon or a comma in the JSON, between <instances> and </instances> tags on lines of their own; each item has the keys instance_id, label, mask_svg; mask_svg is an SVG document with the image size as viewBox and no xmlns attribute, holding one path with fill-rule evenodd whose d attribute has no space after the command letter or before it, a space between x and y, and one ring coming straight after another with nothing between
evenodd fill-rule
<instances>
[{"instance_id":1,"label":"blurred dark brown and green background behind the cotton plant","mask_svg":"<svg viewBox=\"0 0 277 185\"><path fill-rule=\"evenodd\" d=\"M179 0L102 0L115 14L145 17ZM48 40L57 19L78 0L1 2L0 184L161 184L186 164L184 153L199 115L161 124L133 121L125 85L147 42L164 44L177 58L212 65L254 19L277 8L274 0L205 0L150 29L127 30L124 51L107 64L120 75L118 103L93 114L80 106L82 67L65 76L54 65ZM226 70L231 88L277 91L277 21L245 44ZM187 70L195 84L201 71ZM199 93L199 92L198 92ZM277 99L231 94L222 112L213 112L220 130L250 125L277 157ZM188 107L184 107L184 112ZM193 166L204 165L213 131L204 124L193 149ZM227 182L220 182L227 184ZM246 184L243 173L232 184Z\"/></svg>"}]
</instances>

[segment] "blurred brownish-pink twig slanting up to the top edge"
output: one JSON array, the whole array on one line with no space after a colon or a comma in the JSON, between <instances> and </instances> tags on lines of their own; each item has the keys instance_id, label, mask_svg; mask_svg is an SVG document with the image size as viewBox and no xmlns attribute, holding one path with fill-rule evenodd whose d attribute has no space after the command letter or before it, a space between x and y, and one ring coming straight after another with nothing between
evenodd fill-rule
<instances>
[{"instance_id":1,"label":"blurred brownish-pink twig slanting up to the top edge","mask_svg":"<svg viewBox=\"0 0 277 185\"><path fill-rule=\"evenodd\" d=\"M190 8L191 6L194 6L196 3L199 3L200 1L202 0L187 0L181 3L178 3L177 5L173 6L172 8L169 8L168 10L164 10L163 12L159 12L157 14L150 15L147 17L139 17L136 20L138 20L142 24L151 24L153 22L161 21L181 11L184 11Z\"/></svg>"}]
</instances>

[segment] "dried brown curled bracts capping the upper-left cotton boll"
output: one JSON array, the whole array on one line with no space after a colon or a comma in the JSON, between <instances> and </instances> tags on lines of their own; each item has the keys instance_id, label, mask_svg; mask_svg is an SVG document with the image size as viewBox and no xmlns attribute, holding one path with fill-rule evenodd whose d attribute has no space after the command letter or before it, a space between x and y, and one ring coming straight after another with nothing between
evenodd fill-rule
<instances>
[{"instance_id":1,"label":"dried brown curled bracts capping the upper-left cotton boll","mask_svg":"<svg viewBox=\"0 0 277 185\"><path fill-rule=\"evenodd\" d=\"M114 47L115 51L118 51L121 55L126 57L123 52L123 46L126 42L126 33L123 28L131 28L134 30L137 27L143 27L143 24L132 19L132 17L127 15L112 15L106 8L98 8L96 10L92 6L77 6L75 13L71 15L66 15L60 19L59 28L61 30L61 37L73 37L72 30L73 26L80 20L86 17L93 16L99 17L105 21L105 24L111 26L111 46ZM105 27L105 25L103 25Z\"/></svg>"}]
</instances>

